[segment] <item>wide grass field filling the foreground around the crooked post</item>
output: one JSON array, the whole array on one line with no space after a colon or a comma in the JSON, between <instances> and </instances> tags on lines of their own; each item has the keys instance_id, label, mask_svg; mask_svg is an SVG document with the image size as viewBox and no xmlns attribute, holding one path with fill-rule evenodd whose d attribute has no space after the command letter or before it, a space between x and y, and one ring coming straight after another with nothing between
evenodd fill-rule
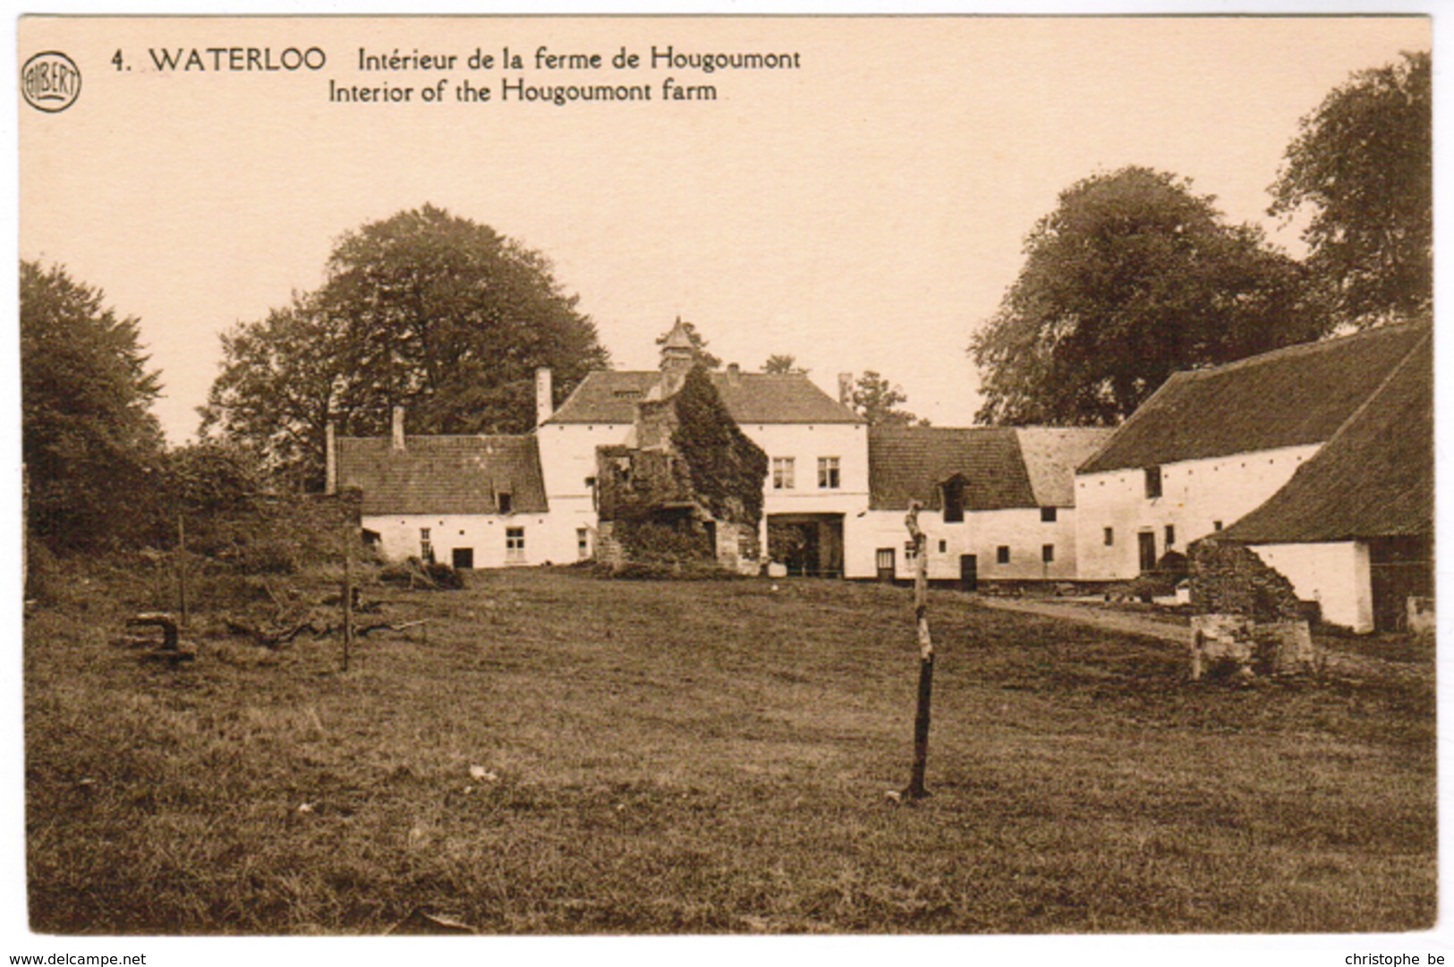
<instances>
[{"instance_id":1,"label":"wide grass field filling the foreground around the crooked post","mask_svg":"<svg viewBox=\"0 0 1454 967\"><path fill-rule=\"evenodd\" d=\"M1407 931L1435 918L1432 649L1185 681L1163 643L935 592L478 573L417 635L176 672L81 592L26 624L45 932ZM1351 643L1333 643L1352 649Z\"/></svg>"}]
</instances>

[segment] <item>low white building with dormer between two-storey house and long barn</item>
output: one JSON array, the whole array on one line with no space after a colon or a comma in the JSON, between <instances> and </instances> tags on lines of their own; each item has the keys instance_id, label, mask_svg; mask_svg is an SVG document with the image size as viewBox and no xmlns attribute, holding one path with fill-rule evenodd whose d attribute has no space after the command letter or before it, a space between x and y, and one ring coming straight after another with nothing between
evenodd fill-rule
<instances>
[{"instance_id":1,"label":"low white building with dormer between two-storey house and long barn","mask_svg":"<svg viewBox=\"0 0 1454 967\"><path fill-rule=\"evenodd\" d=\"M980 582L1076 577L1076 465L1104 428L872 428L869 500L849 528L849 577L910 577L904 513L919 502L928 576Z\"/></svg>"}]
</instances>

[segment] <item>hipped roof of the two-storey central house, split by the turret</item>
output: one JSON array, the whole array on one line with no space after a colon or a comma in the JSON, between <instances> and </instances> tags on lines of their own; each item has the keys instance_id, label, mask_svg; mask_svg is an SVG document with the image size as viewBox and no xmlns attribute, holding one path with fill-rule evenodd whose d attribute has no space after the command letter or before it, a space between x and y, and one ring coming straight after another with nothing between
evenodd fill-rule
<instances>
[{"instance_id":1,"label":"hipped roof of the two-storey central house, split by the turret","mask_svg":"<svg viewBox=\"0 0 1454 967\"><path fill-rule=\"evenodd\" d=\"M746 423L862 423L801 372L712 372L731 417ZM582 380L547 423L631 423L637 401L662 380L654 369L602 369Z\"/></svg>"}]
</instances>

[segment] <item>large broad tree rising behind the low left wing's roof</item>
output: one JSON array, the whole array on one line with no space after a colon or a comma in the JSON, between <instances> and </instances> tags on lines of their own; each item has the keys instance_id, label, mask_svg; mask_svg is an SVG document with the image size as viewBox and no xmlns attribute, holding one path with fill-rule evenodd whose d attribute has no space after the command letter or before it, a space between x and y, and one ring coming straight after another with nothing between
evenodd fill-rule
<instances>
[{"instance_id":1,"label":"large broad tree rising behind the low left wing's roof","mask_svg":"<svg viewBox=\"0 0 1454 967\"><path fill-rule=\"evenodd\" d=\"M394 406L417 433L522 433L538 366L564 397L608 364L545 256L425 205L346 233L317 292L222 340L204 432L254 446L317 487L323 433L378 435Z\"/></svg>"}]
</instances>

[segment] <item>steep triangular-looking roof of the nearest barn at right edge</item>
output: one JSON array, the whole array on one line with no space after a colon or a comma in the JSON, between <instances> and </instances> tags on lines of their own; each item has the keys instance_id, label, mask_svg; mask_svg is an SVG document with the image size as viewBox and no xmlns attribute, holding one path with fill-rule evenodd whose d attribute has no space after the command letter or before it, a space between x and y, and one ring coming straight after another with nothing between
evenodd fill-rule
<instances>
[{"instance_id":1,"label":"steep triangular-looking roof of the nearest barn at right edge","mask_svg":"<svg viewBox=\"0 0 1454 967\"><path fill-rule=\"evenodd\" d=\"M1266 503L1218 537L1248 544L1434 534L1434 339Z\"/></svg>"}]
</instances>

